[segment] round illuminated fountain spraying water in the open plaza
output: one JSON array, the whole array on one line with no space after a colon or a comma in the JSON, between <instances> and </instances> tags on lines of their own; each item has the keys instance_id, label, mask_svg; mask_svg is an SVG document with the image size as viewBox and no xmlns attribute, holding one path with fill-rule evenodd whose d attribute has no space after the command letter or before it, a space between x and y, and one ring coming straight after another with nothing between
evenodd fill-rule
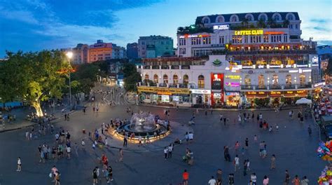
<instances>
[{"instance_id":1,"label":"round illuminated fountain spraying water in the open plaza","mask_svg":"<svg viewBox=\"0 0 332 185\"><path fill-rule=\"evenodd\" d=\"M165 121L158 121L158 116L150 114L149 112L140 111L132 115L130 123L125 123L116 129L116 135L123 137L123 133L127 132L133 139L139 136L144 137L148 135L151 139L153 137L165 137L170 131L167 130Z\"/></svg>"}]
</instances>

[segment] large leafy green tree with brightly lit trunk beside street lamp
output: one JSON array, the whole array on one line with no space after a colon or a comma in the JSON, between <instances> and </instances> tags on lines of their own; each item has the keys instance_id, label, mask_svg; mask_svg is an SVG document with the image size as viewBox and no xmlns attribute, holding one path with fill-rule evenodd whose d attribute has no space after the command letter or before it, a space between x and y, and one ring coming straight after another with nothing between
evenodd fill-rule
<instances>
[{"instance_id":1,"label":"large leafy green tree with brightly lit trunk beside street lamp","mask_svg":"<svg viewBox=\"0 0 332 185\"><path fill-rule=\"evenodd\" d=\"M41 101L62 96L62 89L71 70L67 57L60 50L7 53L7 55L8 60L0 69L1 75L7 76L5 81L1 81L4 83L1 86L14 87L15 91L11 92L13 93L11 97L28 102L36 109L37 116L43 116ZM0 97L6 97L4 90L0 93Z\"/></svg>"}]
</instances>

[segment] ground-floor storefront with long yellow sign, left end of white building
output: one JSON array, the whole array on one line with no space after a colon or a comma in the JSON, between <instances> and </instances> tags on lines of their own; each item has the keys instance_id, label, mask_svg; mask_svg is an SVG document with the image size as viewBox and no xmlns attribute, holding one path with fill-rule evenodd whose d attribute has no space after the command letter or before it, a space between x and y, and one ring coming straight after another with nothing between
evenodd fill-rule
<instances>
[{"instance_id":1,"label":"ground-floor storefront with long yellow sign, left end of white building","mask_svg":"<svg viewBox=\"0 0 332 185\"><path fill-rule=\"evenodd\" d=\"M140 101L151 104L178 104L190 101L187 88L138 87Z\"/></svg>"}]
</instances>

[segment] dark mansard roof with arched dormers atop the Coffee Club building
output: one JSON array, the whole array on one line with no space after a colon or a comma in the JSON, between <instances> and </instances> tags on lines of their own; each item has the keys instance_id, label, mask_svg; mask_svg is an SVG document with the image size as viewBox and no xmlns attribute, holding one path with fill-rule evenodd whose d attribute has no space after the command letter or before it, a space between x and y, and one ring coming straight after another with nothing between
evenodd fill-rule
<instances>
[{"instance_id":1,"label":"dark mansard roof with arched dormers atop the Coffee Club building","mask_svg":"<svg viewBox=\"0 0 332 185\"><path fill-rule=\"evenodd\" d=\"M256 12L256 13L229 13L229 14L204 15L204 16L197 17L196 22L202 22L202 18L209 17L211 23L214 23L214 22L216 22L216 17L218 17L219 15L223 15L223 18L225 18L225 22L230 22L230 16L232 16L232 15L237 15L239 17L239 20L241 21L244 19L245 15L247 15L247 14L253 15L254 20L258 20L258 16L261 13L265 13L266 15L268 15L268 19L272 18L273 14L279 13L282 16L282 20L286 20L287 13L293 13L293 15L295 16L295 20L300 20L297 12Z\"/></svg>"}]
</instances>

